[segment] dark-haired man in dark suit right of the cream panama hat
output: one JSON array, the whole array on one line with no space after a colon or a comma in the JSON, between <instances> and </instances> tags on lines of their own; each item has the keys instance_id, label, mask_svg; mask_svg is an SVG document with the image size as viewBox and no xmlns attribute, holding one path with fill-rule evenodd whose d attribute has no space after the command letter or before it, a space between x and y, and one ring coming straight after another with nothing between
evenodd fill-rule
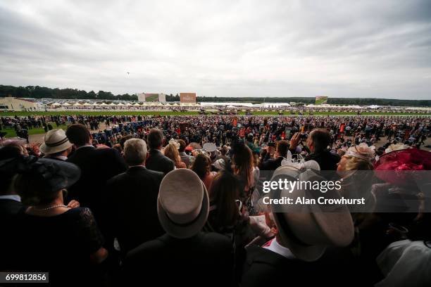
<instances>
[{"instance_id":1,"label":"dark-haired man in dark suit right of the cream panama hat","mask_svg":"<svg viewBox=\"0 0 431 287\"><path fill-rule=\"evenodd\" d=\"M109 224L104 221L106 217L103 214L106 208L106 181L125 172L127 165L115 149L94 148L92 136L85 125L70 125L66 136L76 148L67 161L75 163L81 169L81 178L70 187L68 197L79 201L81 206L90 208L102 233L105 233Z\"/></svg>"}]
</instances>

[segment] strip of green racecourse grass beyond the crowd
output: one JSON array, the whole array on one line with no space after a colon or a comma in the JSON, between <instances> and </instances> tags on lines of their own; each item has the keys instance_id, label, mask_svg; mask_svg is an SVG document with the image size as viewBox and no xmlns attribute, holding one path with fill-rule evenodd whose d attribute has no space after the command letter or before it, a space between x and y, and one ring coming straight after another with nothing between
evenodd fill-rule
<instances>
[{"instance_id":1,"label":"strip of green racecourse grass beyond the crowd","mask_svg":"<svg viewBox=\"0 0 431 287\"><path fill-rule=\"evenodd\" d=\"M278 115L276 111L255 111L253 115ZM62 111L35 111L35 112L0 112L0 117L10 116L27 116L27 115L199 115L196 111L187 112L173 112L173 111L156 111L156 110L142 110L142 111L88 111L88 110L62 110ZM239 112L239 115L245 115L245 112ZM283 115L291 115L290 112L284 112ZM298 113L294 113L298 115ZM308 115L308 114L306 114ZM313 115L356 115L356 113L350 112L315 112ZM382 112L364 112L361 115L427 115L431 116L431 113L382 113Z\"/></svg>"}]
</instances>

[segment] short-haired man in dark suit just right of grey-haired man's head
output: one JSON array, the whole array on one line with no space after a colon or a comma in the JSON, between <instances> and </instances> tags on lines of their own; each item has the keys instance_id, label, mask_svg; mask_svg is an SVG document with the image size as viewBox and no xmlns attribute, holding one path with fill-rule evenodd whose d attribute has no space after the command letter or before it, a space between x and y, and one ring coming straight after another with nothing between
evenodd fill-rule
<instances>
[{"instance_id":1,"label":"short-haired man in dark suit just right of grey-haired man's head","mask_svg":"<svg viewBox=\"0 0 431 287\"><path fill-rule=\"evenodd\" d=\"M146 168L167 174L175 169L175 163L161 153L163 146L163 132L160 129L150 129L148 134L149 158L146 160Z\"/></svg>"}]
</instances>

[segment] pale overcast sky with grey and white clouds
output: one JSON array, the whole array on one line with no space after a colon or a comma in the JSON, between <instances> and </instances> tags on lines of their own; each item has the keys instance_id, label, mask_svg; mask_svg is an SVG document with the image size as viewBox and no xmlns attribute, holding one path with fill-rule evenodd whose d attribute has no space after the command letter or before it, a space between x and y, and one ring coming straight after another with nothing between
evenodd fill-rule
<instances>
[{"instance_id":1,"label":"pale overcast sky with grey and white clouds","mask_svg":"<svg viewBox=\"0 0 431 287\"><path fill-rule=\"evenodd\" d=\"M431 1L2 0L0 84L431 99Z\"/></svg>"}]
</instances>

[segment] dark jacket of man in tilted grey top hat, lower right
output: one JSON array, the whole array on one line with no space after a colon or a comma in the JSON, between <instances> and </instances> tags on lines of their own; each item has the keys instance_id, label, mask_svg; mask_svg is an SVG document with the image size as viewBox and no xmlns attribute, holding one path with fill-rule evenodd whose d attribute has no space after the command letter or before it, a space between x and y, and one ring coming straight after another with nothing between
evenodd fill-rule
<instances>
[{"instance_id":1,"label":"dark jacket of man in tilted grey top hat, lower right","mask_svg":"<svg viewBox=\"0 0 431 287\"><path fill-rule=\"evenodd\" d=\"M337 250L316 262L304 262L250 245L246 248L242 286L356 286L357 270L351 268L350 259Z\"/></svg>"}]
</instances>

